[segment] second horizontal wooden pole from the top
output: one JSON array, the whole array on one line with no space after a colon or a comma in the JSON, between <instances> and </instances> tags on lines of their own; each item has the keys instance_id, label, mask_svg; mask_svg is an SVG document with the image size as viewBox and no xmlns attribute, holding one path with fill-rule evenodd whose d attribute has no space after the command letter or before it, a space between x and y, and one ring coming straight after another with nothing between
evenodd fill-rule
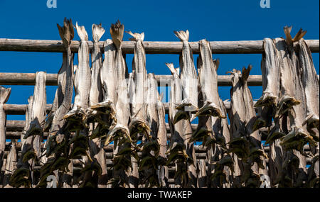
<instances>
[{"instance_id":1,"label":"second horizontal wooden pole from the top","mask_svg":"<svg viewBox=\"0 0 320 202\"><path fill-rule=\"evenodd\" d=\"M155 75L158 86L170 86L171 75ZM34 85L36 74L34 73L0 73L0 85ZM46 85L56 86L58 74L47 74ZM250 75L247 79L249 86L262 86L261 75ZM232 86L230 75L218 75L218 86Z\"/></svg>"}]
</instances>

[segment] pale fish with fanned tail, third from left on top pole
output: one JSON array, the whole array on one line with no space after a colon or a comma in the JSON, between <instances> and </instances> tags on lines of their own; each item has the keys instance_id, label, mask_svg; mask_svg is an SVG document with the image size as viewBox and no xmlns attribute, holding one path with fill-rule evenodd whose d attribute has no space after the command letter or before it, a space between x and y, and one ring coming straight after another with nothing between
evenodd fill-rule
<instances>
[{"instance_id":1,"label":"pale fish with fanned tail, third from left on top pole","mask_svg":"<svg viewBox=\"0 0 320 202\"><path fill-rule=\"evenodd\" d=\"M105 29L100 25L92 25L93 49L91 53L91 85L89 94L89 106L93 106L102 101L102 89L100 80L100 68L102 67L102 52L99 40L105 33Z\"/></svg>"}]
</instances>

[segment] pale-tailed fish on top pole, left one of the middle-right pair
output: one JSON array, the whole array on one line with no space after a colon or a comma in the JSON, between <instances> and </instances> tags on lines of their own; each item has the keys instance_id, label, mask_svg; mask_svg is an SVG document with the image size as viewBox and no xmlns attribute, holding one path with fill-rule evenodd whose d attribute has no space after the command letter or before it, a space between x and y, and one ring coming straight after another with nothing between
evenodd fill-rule
<instances>
[{"instance_id":1,"label":"pale-tailed fish on top pole, left one of the middle-right pair","mask_svg":"<svg viewBox=\"0 0 320 202\"><path fill-rule=\"evenodd\" d=\"M177 109L185 112L178 113L174 118L174 124L181 119L193 120L194 116L190 116L190 113L196 113L198 111L198 79L196 68L194 67L193 55L191 46L188 43L189 32L186 31L174 31L175 35L181 40L182 52L180 54L180 79L183 89L183 100L176 107Z\"/></svg>"}]
</instances>

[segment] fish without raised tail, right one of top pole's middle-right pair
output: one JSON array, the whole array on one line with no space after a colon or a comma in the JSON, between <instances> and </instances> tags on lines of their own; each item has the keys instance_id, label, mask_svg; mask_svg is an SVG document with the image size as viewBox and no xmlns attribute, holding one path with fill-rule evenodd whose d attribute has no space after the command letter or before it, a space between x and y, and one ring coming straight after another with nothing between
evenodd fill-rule
<instances>
[{"instance_id":1,"label":"fish without raised tail, right one of top pole's middle-right pair","mask_svg":"<svg viewBox=\"0 0 320 202\"><path fill-rule=\"evenodd\" d=\"M218 60L212 59L212 52L208 40L200 40L200 56L198 57L198 74L204 104L196 116L218 116L223 118L219 108L218 96ZM207 112L208 111L208 112Z\"/></svg>"}]
</instances>

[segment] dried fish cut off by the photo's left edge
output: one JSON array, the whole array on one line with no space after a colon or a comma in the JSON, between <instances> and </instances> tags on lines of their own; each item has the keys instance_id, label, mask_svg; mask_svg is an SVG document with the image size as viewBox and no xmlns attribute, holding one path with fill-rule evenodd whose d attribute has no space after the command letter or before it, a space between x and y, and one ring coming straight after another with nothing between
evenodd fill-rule
<instances>
[{"instance_id":1,"label":"dried fish cut off by the photo's left edge","mask_svg":"<svg viewBox=\"0 0 320 202\"><path fill-rule=\"evenodd\" d=\"M4 148L6 147L6 113L4 112L4 103L8 101L11 94L11 88L6 89L0 86L0 169L4 162Z\"/></svg>"}]
</instances>

